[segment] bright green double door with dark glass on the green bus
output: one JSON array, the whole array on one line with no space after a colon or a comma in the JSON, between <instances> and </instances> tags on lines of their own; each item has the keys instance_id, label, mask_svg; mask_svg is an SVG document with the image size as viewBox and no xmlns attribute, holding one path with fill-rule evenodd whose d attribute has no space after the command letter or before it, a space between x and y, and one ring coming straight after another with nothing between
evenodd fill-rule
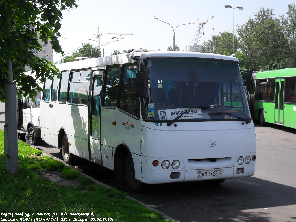
<instances>
[{"instance_id":1,"label":"bright green double door with dark glass on the green bus","mask_svg":"<svg viewBox=\"0 0 296 222\"><path fill-rule=\"evenodd\" d=\"M276 80L276 93L275 93L275 110L274 122L283 124L283 107L284 107L284 79Z\"/></svg>"}]
</instances>

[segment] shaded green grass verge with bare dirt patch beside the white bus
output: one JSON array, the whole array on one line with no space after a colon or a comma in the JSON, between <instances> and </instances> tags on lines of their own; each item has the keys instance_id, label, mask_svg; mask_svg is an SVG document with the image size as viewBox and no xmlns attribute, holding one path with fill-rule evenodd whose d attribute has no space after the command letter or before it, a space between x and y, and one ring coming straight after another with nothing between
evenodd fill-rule
<instances>
[{"instance_id":1,"label":"shaded green grass verge with bare dirt patch beside the white bus","mask_svg":"<svg viewBox=\"0 0 296 222\"><path fill-rule=\"evenodd\" d=\"M125 193L92 183L89 178L76 172L39 150L18 141L19 173L12 175L6 172L4 156L4 133L0 130L0 212L29 213L28 218L37 213L50 213L51 217L38 218L112 218L113 221L169 221L160 213L151 211L140 203L126 197ZM65 178L78 180L76 187L58 186L38 176L39 171L57 170ZM68 216L61 216L61 213ZM93 213L93 215L70 216L70 213ZM33 215L34 214L34 215ZM57 214L54 216L54 214ZM20 218L13 216L8 218ZM4 216L0 216L4 218ZM43 221L46 219L43 219ZM99 220L99 219L98 219Z\"/></svg>"}]
</instances>

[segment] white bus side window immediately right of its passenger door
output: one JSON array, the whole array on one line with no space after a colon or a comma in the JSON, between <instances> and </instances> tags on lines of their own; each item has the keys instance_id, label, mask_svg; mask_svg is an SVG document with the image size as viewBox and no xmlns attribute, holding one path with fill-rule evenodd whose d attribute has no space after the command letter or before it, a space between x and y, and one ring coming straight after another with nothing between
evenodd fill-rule
<instances>
[{"instance_id":1,"label":"white bus side window immediately right of its passenger door","mask_svg":"<svg viewBox=\"0 0 296 222\"><path fill-rule=\"evenodd\" d=\"M118 84L120 75L120 65L109 66L106 68L104 107L115 108L118 96Z\"/></svg>"}]
</instances>

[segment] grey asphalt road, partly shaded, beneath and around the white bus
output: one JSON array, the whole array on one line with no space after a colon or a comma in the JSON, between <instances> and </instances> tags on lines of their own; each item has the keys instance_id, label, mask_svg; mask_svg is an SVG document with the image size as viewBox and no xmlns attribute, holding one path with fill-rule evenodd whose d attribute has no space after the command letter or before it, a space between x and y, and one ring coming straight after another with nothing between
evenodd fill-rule
<instances>
[{"instance_id":1,"label":"grey asphalt road, partly shaded, beneath and around the white bus","mask_svg":"<svg viewBox=\"0 0 296 222\"><path fill-rule=\"evenodd\" d=\"M0 127L4 126L0 103ZM227 179L220 186L203 182L153 185L145 193L129 192L115 183L112 172L82 160L80 170L115 189L184 222L193 221L296 221L296 130L256 125L257 158L252 177ZM59 150L38 146L55 157Z\"/></svg>"}]
</instances>

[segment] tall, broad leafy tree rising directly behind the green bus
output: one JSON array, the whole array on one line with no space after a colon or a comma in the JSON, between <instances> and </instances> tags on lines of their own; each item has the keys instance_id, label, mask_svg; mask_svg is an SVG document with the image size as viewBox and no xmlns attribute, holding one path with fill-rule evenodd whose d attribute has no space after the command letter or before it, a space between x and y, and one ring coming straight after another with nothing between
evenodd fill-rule
<instances>
[{"instance_id":1,"label":"tall, broad leafy tree rising directly behind the green bus","mask_svg":"<svg viewBox=\"0 0 296 222\"><path fill-rule=\"evenodd\" d=\"M282 69L288 66L288 40L272 9L260 8L238 29L241 42L248 44L248 63L253 70ZM245 48L245 47L244 47Z\"/></svg>"}]
</instances>

